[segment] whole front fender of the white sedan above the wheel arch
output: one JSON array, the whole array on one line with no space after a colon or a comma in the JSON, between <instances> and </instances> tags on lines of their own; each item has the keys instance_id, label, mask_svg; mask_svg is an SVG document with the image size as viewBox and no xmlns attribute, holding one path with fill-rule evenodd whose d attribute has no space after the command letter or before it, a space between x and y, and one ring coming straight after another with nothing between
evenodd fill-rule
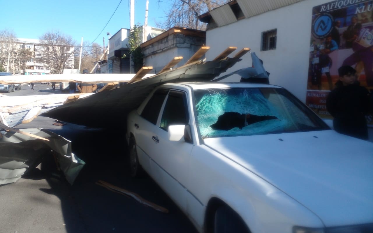
<instances>
[{"instance_id":1,"label":"whole front fender of the white sedan above the wheel arch","mask_svg":"<svg viewBox=\"0 0 373 233\"><path fill-rule=\"evenodd\" d=\"M252 233L288 233L299 224L324 226L313 212L262 179L260 174L204 145L193 149L190 175L189 191L206 207L206 214L211 214L211 200L219 199L241 216ZM209 219L206 214L198 214L201 209L189 211L191 216L198 216L194 221L200 226ZM274 223L281 223L282 227Z\"/></svg>"}]
</instances>

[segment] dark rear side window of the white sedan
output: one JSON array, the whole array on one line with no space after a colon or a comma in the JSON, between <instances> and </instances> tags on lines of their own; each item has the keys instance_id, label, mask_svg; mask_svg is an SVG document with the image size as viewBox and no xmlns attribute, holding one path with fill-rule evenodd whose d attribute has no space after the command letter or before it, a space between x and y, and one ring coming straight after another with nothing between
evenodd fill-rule
<instances>
[{"instance_id":1,"label":"dark rear side window of the white sedan","mask_svg":"<svg viewBox=\"0 0 373 233\"><path fill-rule=\"evenodd\" d=\"M145 120L148 120L154 125L157 123L160 109L168 91L167 89L161 88L154 92L153 96L144 107L144 110L141 112L141 116L144 117Z\"/></svg>"}]
</instances>

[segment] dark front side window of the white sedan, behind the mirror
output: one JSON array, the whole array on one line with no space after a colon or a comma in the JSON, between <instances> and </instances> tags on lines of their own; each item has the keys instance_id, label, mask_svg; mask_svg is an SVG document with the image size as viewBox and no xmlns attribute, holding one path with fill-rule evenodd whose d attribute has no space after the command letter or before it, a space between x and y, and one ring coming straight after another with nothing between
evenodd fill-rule
<instances>
[{"instance_id":1,"label":"dark front side window of the white sedan, behind the mirror","mask_svg":"<svg viewBox=\"0 0 373 233\"><path fill-rule=\"evenodd\" d=\"M160 127L167 131L170 125L188 125L188 123L186 94L181 91L170 91L164 106Z\"/></svg>"}]
</instances>

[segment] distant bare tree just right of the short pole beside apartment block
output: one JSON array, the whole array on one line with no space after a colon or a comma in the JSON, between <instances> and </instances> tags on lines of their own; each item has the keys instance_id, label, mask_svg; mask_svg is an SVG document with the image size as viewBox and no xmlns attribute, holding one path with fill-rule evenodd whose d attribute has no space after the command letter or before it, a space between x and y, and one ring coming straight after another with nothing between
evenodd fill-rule
<instances>
[{"instance_id":1,"label":"distant bare tree just right of the short pole beside apartment block","mask_svg":"<svg viewBox=\"0 0 373 233\"><path fill-rule=\"evenodd\" d=\"M100 60L100 57L102 56L103 52L103 46L100 46L97 43L93 43L90 46L90 43L87 41L84 41L83 47L82 47L82 61L81 61L81 72L84 69L88 69L88 71L91 71L94 67L94 63L98 62ZM79 67L79 59L80 59L80 44L75 45L75 51L74 51L74 64L75 67Z\"/></svg>"}]
</instances>

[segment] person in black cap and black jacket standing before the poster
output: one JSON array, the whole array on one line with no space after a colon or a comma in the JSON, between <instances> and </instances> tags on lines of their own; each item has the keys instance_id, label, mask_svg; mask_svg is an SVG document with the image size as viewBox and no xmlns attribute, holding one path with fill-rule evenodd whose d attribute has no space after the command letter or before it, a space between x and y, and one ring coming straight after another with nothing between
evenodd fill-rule
<instances>
[{"instance_id":1,"label":"person in black cap and black jacket standing before the poster","mask_svg":"<svg viewBox=\"0 0 373 233\"><path fill-rule=\"evenodd\" d=\"M338 133L368 139L365 115L369 111L369 91L360 86L351 66L338 69L339 81L326 100L326 108L334 117L333 127Z\"/></svg>"}]
</instances>

